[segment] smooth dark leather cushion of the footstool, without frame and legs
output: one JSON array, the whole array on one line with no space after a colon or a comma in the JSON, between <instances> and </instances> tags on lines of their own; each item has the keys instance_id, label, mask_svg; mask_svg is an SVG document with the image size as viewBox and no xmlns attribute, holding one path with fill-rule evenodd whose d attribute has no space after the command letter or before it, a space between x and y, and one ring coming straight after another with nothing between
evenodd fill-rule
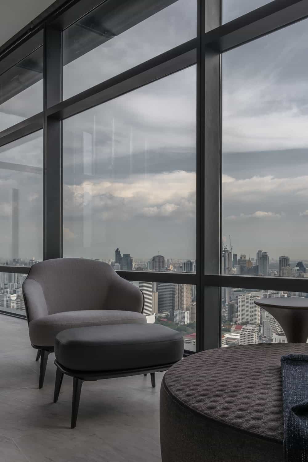
<instances>
[{"instance_id":1,"label":"smooth dark leather cushion of the footstool, without frame and legs","mask_svg":"<svg viewBox=\"0 0 308 462\"><path fill-rule=\"evenodd\" d=\"M57 361L71 371L121 371L173 364L183 335L158 324L112 324L66 329L56 336Z\"/></svg>"}]
</instances>

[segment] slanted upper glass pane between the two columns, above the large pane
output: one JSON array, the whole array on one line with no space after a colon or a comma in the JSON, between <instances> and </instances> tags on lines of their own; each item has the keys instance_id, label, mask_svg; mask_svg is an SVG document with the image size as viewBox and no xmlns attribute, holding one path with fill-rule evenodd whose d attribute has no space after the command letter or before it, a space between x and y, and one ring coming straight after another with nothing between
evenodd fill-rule
<instances>
[{"instance_id":1,"label":"slanted upper glass pane between the two columns, above the large pane","mask_svg":"<svg viewBox=\"0 0 308 462\"><path fill-rule=\"evenodd\" d=\"M196 0L104 2L63 33L64 99L194 38L196 14Z\"/></svg>"}]
</instances>

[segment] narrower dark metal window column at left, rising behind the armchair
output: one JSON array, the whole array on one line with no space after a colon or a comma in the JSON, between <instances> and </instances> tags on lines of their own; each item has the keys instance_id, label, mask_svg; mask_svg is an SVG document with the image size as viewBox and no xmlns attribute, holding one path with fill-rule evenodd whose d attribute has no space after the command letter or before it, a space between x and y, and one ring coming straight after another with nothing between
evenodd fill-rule
<instances>
[{"instance_id":1,"label":"narrower dark metal window column at left, rising behind the armchair","mask_svg":"<svg viewBox=\"0 0 308 462\"><path fill-rule=\"evenodd\" d=\"M62 249L61 121L47 109L61 101L62 32L44 30L44 260L60 258Z\"/></svg>"}]
</instances>

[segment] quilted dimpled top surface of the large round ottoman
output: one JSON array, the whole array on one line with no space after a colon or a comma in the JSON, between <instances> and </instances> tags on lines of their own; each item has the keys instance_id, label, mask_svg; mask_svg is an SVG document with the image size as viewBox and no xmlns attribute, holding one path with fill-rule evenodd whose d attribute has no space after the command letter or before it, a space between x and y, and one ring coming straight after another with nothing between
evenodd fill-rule
<instances>
[{"instance_id":1,"label":"quilted dimpled top surface of the large round ottoman","mask_svg":"<svg viewBox=\"0 0 308 462\"><path fill-rule=\"evenodd\" d=\"M268 439L283 440L284 354L308 354L308 344L215 348L173 365L164 384L191 411Z\"/></svg>"}]
</instances>

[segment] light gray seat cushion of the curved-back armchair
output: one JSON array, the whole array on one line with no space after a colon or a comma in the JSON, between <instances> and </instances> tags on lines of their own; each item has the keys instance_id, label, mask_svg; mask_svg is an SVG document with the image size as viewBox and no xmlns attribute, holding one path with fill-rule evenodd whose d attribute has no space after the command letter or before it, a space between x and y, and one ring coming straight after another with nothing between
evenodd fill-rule
<instances>
[{"instance_id":1,"label":"light gray seat cushion of the curved-back armchair","mask_svg":"<svg viewBox=\"0 0 308 462\"><path fill-rule=\"evenodd\" d=\"M102 326L106 324L146 324L141 313L124 310L78 310L42 316L29 323L32 345L54 346L57 334L76 327Z\"/></svg>"}]
</instances>

